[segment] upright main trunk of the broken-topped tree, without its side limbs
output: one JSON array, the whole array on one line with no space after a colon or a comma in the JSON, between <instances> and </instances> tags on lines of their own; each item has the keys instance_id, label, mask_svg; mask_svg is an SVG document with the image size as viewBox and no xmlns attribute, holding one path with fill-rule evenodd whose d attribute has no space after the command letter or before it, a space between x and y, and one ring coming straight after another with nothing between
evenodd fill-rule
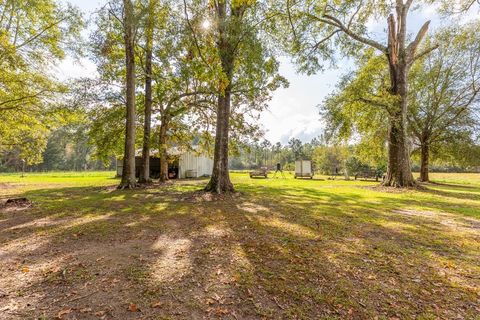
<instances>
[{"instance_id":1,"label":"upright main trunk of the broken-topped tree, without its side limbs","mask_svg":"<svg viewBox=\"0 0 480 320\"><path fill-rule=\"evenodd\" d=\"M400 10L402 12L402 10ZM390 93L398 97L398 103L390 110L388 132L388 168L384 186L415 186L410 166L410 152L407 140L407 96L408 96L408 57L405 48L404 12L399 19L399 28L393 15L388 19L388 53L391 88ZM399 31L397 31L399 30Z\"/></svg>"}]
</instances>

